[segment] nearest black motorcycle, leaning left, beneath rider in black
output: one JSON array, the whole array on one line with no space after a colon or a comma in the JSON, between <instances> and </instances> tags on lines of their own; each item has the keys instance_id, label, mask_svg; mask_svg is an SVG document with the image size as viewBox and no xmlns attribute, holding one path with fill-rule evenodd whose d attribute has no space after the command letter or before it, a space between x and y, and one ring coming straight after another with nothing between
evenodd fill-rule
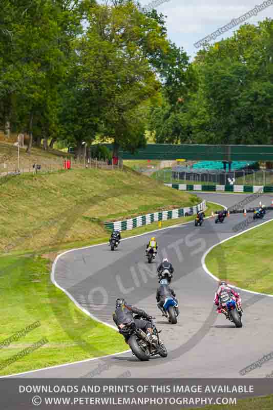
<instances>
[{"instance_id":1,"label":"nearest black motorcycle, leaning left, beneath rider in black","mask_svg":"<svg viewBox=\"0 0 273 410\"><path fill-rule=\"evenodd\" d=\"M136 315L134 319L141 319L141 316ZM149 317L145 319L151 320L155 318ZM138 329L134 322L128 323L119 330L119 333L127 339L133 355L141 361L148 361L150 357L155 355L160 355L161 357L167 357L168 355L165 345L159 339L161 331L158 332L154 323L152 323L152 329L153 336L156 336L153 341L143 330Z\"/></svg>"}]
</instances>

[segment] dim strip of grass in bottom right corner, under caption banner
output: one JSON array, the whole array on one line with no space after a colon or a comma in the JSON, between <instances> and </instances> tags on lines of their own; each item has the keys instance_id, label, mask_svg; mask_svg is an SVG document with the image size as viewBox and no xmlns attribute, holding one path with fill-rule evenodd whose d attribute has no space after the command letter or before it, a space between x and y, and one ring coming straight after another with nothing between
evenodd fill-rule
<instances>
[{"instance_id":1,"label":"dim strip of grass in bottom right corner, under caption banner","mask_svg":"<svg viewBox=\"0 0 273 410\"><path fill-rule=\"evenodd\" d=\"M233 405L211 405L199 407L199 410L271 410L273 408L273 396L253 397L249 399L238 400L237 404ZM190 410L198 410L195 409Z\"/></svg>"}]
</instances>

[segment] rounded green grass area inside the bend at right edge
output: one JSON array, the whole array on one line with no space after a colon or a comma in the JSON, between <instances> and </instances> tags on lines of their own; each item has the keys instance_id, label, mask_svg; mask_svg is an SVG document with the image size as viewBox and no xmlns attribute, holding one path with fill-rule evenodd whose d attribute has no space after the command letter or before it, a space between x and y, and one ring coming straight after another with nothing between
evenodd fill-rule
<instances>
[{"instance_id":1,"label":"rounded green grass area inside the bend at right edge","mask_svg":"<svg viewBox=\"0 0 273 410\"><path fill-rule=\"evenodd\" d=\"M273 294L272 241L273 221L215 247L205 258L206 266L239 288Z\"/></svg>"}]
</instances>

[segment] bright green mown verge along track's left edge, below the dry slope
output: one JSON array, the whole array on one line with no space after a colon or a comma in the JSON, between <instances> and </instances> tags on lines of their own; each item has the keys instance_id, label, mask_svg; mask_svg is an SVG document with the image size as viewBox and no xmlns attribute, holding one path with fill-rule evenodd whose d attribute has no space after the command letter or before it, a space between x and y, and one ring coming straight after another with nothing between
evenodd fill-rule
<instances>
[{"instance_id":1,"label":"bright green mown verge along track's left edge, below the dry slope","mask_svg":"<svg viewBox=\"0 0 273 410\"><path fill-rule=\"evenodd\" d=\"M208 203L206 214L220 209ZM162 227L193 220L194 216L163 221ZM158 228L158 223L124 231L123 237ZM70 243L70 248L107 241L108 237L89 242ZM52 249L53 250L53 249ZM52 251L51 250L51 251ZM44 250L46 251L46 249ZM47 249L49 251L49 249ZM122 336L82 313L74 303L50 281L50 261L40 255L0 257L1 343L37 320L40 326L25 337L0 348L0 375L9 375L36 368L69 363L127 350ZM6 360L24 351L41 339L48 342L36 351L7 365ZM3 367L4 366L4 367Z\"/></svg>"}]
</instances>

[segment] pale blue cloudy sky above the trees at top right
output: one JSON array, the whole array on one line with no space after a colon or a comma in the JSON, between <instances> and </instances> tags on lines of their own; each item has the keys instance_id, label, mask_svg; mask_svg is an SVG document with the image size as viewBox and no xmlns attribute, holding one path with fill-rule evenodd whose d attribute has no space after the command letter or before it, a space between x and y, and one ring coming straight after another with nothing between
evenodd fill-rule
<instances>
[{"instance_id":1,"label":"pale blue cloudy sky above the trees at top right","mask_svg":"<svg viewBox=\"0 0 273 410\"><path fill-rule=\"evenodd\" d=\"M139 1L142 7L150 4L150 0ZM257 24L266 17L273 18L273 0L270 0L270 3L272 5L260 9L261 11L249 18L247 23ZM154 8L166 16L168 37L193 58L198 51L194 44L200 39L225 26L233 18L238 18L262 4L263 0L169 0ZM229 37L239 27L240 25L221 34L215 42ZM214 41L211 42L213 43Z\"/></svg>"}]
</instances>

